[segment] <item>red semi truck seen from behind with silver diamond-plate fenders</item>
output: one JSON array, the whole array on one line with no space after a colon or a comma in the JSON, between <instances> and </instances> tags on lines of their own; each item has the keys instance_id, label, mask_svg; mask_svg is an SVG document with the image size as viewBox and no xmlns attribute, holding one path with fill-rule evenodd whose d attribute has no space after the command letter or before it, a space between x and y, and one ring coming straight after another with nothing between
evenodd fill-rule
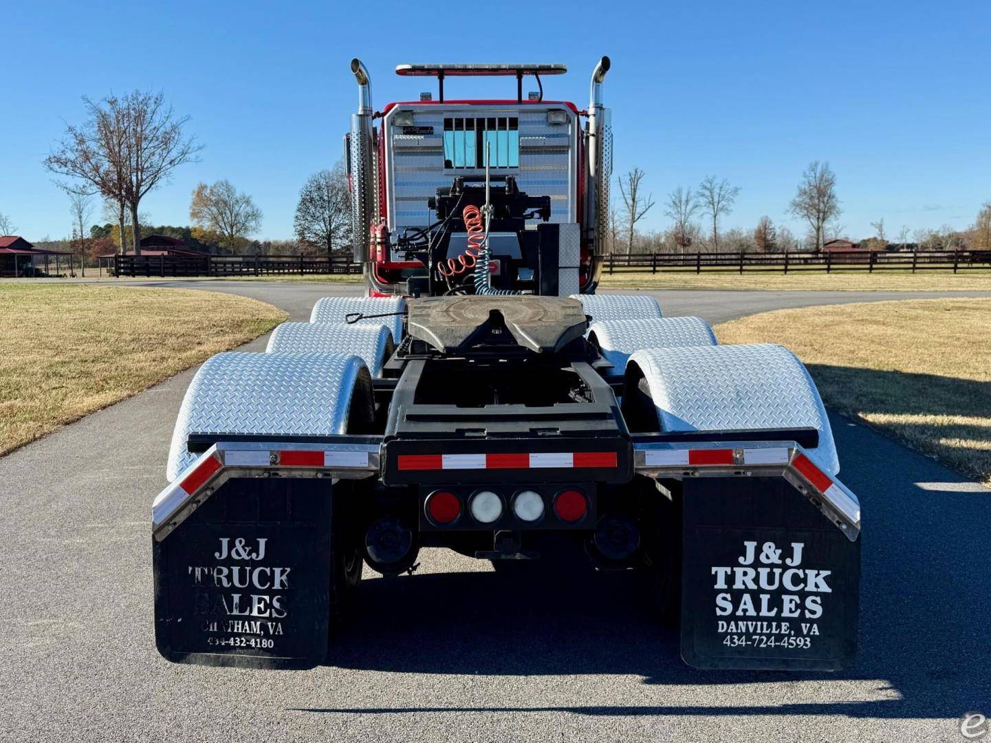
<instances>
[{"instance_id":1,"label":"red semi truck seen from behind with silver diamond-plate fenders","mask_svg":"<svg viewBox=\"0 0 991 743\"><path fill-rule=\"evenodd\" d=\"M365 296L321 299L190 383L152 509L167 660L333 663L363 570L409 579L441 548L509 580L636 571L699 669L852 663L860 506L806 368L597 293L609 67L579 109L544 98L563 64L400 64L436 99L376 111L351 62ZM473 76L515 95L445 97Z\"/></svg>"}]
</instances>

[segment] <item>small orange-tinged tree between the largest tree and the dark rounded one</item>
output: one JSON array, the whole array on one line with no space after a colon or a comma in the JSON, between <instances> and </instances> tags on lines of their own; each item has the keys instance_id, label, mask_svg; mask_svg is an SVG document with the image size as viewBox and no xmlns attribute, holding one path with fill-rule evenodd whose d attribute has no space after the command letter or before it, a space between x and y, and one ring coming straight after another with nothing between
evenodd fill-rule
<instances>
[{"instance_id":1,"label":"small orange-tinged tree between the largest tree and the dark rounded one","mask_svg":"<svg viewBox=\"0 0 991 743\"><path fill-rule=\"evenodd\" d=\"M262 210L251 196L239 193L227 180L196 186L189 202L189 219L195 225L193 237L202 242L215 238L231 252L243 248L247 238L262 228Z\"/></svg>"}]
</instances>

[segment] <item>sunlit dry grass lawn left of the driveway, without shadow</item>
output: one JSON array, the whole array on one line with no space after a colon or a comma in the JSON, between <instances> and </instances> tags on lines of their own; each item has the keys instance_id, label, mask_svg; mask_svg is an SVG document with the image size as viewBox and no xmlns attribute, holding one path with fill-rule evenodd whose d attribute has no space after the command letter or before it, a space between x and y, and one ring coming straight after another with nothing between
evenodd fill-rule
<instances>
[{"instance_id":1,"label":"sunlit dry grass lawn left of the driveway, without shadow","mask_svg":"<svg viewBox=\"0 0 991 743\"><path fill-rule=\"evenodd\" d=\"M0 283L0 454L270 330L255 300L176 289Z\"/></svg>"}]
</instances>

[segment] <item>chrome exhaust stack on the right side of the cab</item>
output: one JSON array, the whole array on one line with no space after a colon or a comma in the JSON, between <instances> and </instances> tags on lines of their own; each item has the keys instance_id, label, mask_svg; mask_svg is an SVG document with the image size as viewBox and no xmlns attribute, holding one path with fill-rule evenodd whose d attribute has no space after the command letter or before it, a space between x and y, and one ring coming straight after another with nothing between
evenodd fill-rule
<instances>
[{"instance_id":1,"label":"chrome exhaust stack on the right side of the cab","mask_svg":"<svg viewBox=\"0 0 991 743\"><path fill-rule=\"evenodd\" d=\"M604 57L592 70L589 90L589 136L588 136L588 224L595 233L596 256L605 251L609 219L609 181L612 178L612 117L603 105L603 81L611 62Z\"/></svg>"}]
</instances>

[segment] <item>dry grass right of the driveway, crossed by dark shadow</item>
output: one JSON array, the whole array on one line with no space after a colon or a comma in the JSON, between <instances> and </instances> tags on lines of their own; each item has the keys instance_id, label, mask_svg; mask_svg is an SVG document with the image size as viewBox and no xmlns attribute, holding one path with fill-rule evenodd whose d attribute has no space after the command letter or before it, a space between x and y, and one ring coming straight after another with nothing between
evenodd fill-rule
<instances>
[{"instance_id":1,"label":"dry grass right of the driveway, crossed by dark shadow","mask_svg":"<svg viewBox=\"0 0 991 743\"><path fill-rule=\"evenodd\" d=\"M776 310L716 326L722 343L775 342L826 405L991 484L991 299Z\"/></svg>"}]
</instances>

